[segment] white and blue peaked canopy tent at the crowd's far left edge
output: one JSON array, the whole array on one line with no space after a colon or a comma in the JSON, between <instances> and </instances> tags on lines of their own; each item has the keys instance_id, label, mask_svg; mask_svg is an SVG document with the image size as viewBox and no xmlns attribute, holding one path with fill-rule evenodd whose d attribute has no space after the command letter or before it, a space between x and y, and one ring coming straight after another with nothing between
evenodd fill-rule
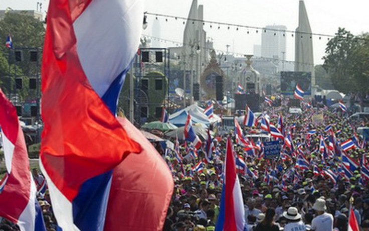
<instances>
[{"instance_id":1,"label":"white and blue peaked canopy tent at the crowd's far left edge","mask_svg":"<svg viewBox=\"0 0 369 231\"><path fill-rule=\"evenodd\" d=\"M181 109L169 116L169 122L177 127L185 126L188 114L191 114L191 119L193 124L203 124L209 126L215 122L221 122L221 118L214 114L214 119L211 120L204 113L204 108L198 106L197 104L190 105L184 109Z\"/></svg>"}]
</instances>

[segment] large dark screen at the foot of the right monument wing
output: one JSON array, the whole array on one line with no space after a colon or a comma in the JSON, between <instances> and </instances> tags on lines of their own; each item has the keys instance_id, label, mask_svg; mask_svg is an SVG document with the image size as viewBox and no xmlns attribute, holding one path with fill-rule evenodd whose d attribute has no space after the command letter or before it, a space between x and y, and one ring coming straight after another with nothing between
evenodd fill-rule
<instances>
[{"instance_id":1,"label":"large dark screen at the foot of the right monument wing","mask_svg":"<svg viewBox=\"0 0 369 231\"><path fill-rule=\"evenodd\" d=\"M297 83L305 95L311 94L311 72L281 71L282 94L293 94Z\"/></svg>"}]
</instances>

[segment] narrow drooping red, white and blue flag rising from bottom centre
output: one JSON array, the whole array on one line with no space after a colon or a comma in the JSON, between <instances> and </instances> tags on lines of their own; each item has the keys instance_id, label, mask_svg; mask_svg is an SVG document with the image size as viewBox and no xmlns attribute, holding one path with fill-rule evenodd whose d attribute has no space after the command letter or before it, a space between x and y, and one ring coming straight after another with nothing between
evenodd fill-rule
<instances>
[{"instance_id":1,"label":"narrow drooping red, white and blue flag rising from bottom centre","mask_svg":"<svg viewBox=\"0 0 369 231\"><path fill-rule=\"evenodd\" d=\"M244 231L246 226L244 202L236 174L235 156L230 138L227 140L224 179L221 206L215 230Z\"/></svg>"}]
</instances>

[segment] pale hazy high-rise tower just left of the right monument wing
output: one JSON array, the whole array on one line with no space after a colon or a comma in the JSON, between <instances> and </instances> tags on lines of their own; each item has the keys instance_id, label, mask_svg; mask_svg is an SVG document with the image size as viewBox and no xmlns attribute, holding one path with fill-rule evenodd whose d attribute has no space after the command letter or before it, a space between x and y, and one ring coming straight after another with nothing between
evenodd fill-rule
<instances>
[{"instance_id":1,"label":"pale hazy high-rise tower just left of the right monument wing","mask_svg":"<svg viewBox=\"0 0 369 231\"><path fill-rule=\"evenodd\" d=\"M261 56L282 60L286 53L286 26L269 25L261 35Z\"/></svg>"}]
</instances>

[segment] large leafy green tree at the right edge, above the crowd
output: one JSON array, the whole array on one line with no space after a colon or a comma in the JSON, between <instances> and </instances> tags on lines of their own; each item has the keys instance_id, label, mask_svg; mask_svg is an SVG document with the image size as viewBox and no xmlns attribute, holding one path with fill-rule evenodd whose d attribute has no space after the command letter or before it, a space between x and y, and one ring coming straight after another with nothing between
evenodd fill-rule
<instances>
[{"instance_id":1,"label":"large leafy green tree at the right edge, above the crowd","mask_svg":"<svg viewBox=\"0 0 369 231\"><path fill-rule=\"evenodd\" d=\"M352 35L339 28L325 49L323 67L343 93L369 92L369 34Z\"/></svg>"}]
</instances>

